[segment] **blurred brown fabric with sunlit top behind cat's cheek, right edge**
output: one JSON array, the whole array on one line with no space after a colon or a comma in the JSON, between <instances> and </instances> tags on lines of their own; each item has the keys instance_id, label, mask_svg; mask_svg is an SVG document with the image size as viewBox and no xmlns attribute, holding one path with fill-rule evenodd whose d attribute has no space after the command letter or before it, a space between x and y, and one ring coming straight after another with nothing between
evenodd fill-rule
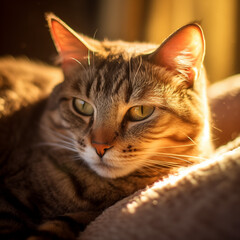
<instances>
[{"instance_id":1,"label":"blurred brown fabric with sunlit top behind cat's cheek, right edge","mask_svg":"<svg viewBox=\"0 0 240 240\"><path fill-rule=\"evenodd\" d=\"M240 133L240 74L208 88L215 147L234 140Z\"/></svg>"}]
</instances>

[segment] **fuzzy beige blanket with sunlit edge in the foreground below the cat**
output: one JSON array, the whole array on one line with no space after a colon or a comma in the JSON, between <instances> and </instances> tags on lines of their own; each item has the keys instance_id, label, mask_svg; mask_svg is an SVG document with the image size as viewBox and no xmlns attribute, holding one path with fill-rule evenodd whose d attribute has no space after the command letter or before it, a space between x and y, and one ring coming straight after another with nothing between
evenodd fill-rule
<instances>
[{"instance_id":1,"label":"fuzzy beige blanket with sunlit edge in the foreground below the cat","mask_svg":"<svg viewBox=\"0 0 240 240\"><path fill-rule=\"evenodd\" d=\"M108 208L79 239L240 239L240 138Z\"/></svg>"}]
</instances>

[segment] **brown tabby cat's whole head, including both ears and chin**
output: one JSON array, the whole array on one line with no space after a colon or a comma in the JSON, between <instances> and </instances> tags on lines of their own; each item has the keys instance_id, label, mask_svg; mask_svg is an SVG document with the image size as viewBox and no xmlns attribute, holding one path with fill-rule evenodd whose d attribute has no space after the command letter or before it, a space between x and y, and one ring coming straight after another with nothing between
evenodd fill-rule
<instances>
[{"instance_id":1,"label":"brown tabby cat's whole head, including both ears and chin","mask_svg":"<svg viewBox=\"0 0 240 240\"><path fill-rule=\"evenodd\" d=\"M157 46L100 42L47 19L65 76L47 114L56 144L110 178L197 158L208 131L199 25Z\"/></svg>"}]
</instances>

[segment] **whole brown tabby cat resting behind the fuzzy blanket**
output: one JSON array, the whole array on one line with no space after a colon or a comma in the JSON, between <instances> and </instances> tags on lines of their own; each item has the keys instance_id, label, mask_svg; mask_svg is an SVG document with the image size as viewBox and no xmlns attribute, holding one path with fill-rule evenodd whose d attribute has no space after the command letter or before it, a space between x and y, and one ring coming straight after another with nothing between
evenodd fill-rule
<instances>
[{"instance_id":1,"label":"whole brown tabby cat resting behind the fuzzy blanket","mask_svg":"<svg viewBox=\"0 0 240 240\"><path fill-rule=\"evenodd\" d=\"M159 46L47 21L63 75L0 60L1 239L76 239L105 208L211 152L198 24Z\"/></svg>"}]
</instances>

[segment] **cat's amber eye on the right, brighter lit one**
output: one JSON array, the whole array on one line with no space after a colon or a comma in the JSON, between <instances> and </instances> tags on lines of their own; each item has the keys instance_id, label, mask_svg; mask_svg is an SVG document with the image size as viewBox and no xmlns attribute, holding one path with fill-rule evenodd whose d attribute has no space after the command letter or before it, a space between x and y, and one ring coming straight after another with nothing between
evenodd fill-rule
<instances>
[{"instance_id":1,"label":"cat's amber eye on the right, brighter lit one","mask_svg":"<svg viewBox=\"0 0 240 240\"><path fill-rule=\"evenodd\" d=\"M129 109L128 116L130 121L142 121L152 115L154 107L135 106Z\"/></svg>"}]
</instances>

